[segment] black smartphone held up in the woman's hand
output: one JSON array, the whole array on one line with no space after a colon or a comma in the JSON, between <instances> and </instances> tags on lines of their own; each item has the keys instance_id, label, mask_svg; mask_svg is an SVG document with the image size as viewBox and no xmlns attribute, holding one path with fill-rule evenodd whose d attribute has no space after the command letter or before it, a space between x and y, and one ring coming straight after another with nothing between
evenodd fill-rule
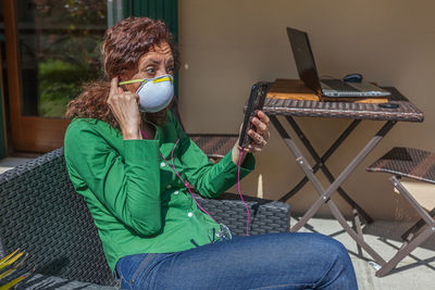
<instances>
[{"instance_id":1,"label":"black smartphone held up in the woman's hand","mask_svg":"<svg viewBox=\"0 0 435 290\"><path fill-rule=\"evenodd\" d=\"M238 144L240 147L247 147L252 142L252 138L248 135L248 130L252 129L253 127L250 121L256 114L257 110L263 109L264 99L268 94L269 86L269 83L259 81L254 84L251 88L251 93L249 94L249 100L246 108L244 125L241 127L240 139L238 141Z\"/></svg>"}]
</instances>

